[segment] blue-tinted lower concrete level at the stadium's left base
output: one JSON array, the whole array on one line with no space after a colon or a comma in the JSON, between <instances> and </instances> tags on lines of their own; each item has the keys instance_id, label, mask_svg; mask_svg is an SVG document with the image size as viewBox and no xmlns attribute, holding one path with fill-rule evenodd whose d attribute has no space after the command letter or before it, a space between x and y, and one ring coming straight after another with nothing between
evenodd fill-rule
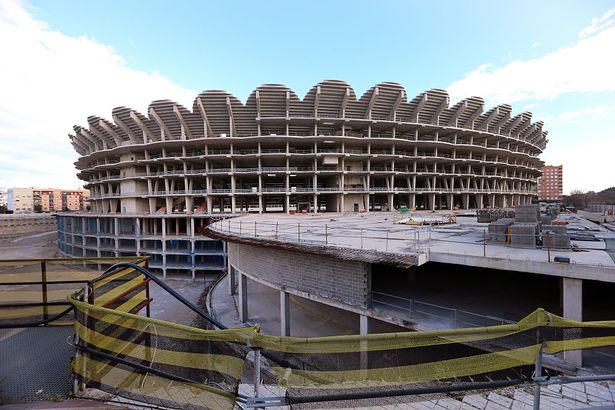
<instances>
[{"instance_id":1,"label":"blue-tinted lower concrete level at the stadium's left base","mask_svg":"<svg viewBox=\"0 0 615 410\"><path fill-rule=\"evenodd\" d=\"M186 215L62 213L58 248L78 257L149 256L149 268L213 280L226 266L226 244L202 235L209 218Z\"/></svg>"}]
</instances>

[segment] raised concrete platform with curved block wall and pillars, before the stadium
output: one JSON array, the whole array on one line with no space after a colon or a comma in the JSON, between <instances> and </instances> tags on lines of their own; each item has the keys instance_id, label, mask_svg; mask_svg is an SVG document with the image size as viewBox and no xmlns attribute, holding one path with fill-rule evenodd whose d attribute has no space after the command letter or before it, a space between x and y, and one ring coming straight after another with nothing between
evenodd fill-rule
<instances>
[{"instance_id":1,"label":"raised concrete platform with curved block wall and pillars, before the stadium","mask_svg":"<svg viewBox=\"0 0 615 410\"><path fill-rule=\"evenodd\" d=\"M585 226L593 232L599 232L605 239L615 238L615 234L604 229L598 231L599 228L590 226L590 222L577 216L560 215L560 218L566 218L571 230ZM229 243L229 266L232 273L229 283L235 281L232 278L234 275L239 275L240 301L245 301L240 302L241 306L247 306L249 294L247 281L243 282L244 278L281 292L282 332L292 328L288 322L288 306L282 299L282 295L287 294L354 312L359 315L362 331L368 329L368 318L414 329L467 326L468 323L476 324L477 320L483 325L505 323L504 319L499 322L497 315L490 312L484 312L484 316L481 316L464 312L463 307L458 311L456 306L417 303L404 297L384 295L376 291L372 285L375 280L373 269L383 261L404 268L432 261L451 264L449 266L466 265L538 274L541 277L559 277L563 283L562 313L564 317L574 320L582 319L583 281L615 283L615 261L600 249L555 252L536 246L533 249L511 248L506 244L483 243L481 239L484 238L486 224L471 222L466 218L458 218L457 224L441 228L398 225L395 224L396 219L398 218L392 213L362 216L262 215L222 221L208 229L210 235ZM275 222L272 224L272 221ZM241 225L251 228L239 230ZM573 242L577 247L585 246L583 243ZM323 249L326 252L323 252ZM388 253L391 257L370 261L365 254L375 249L378 249L379 253ZM356 253L356 250L361 252ZM554 262L553 257L558 255L566 256L571 263ZM378 274L382 275L382 270ZM410 272L405 286L412 286L412 276ZM402 282L403 280L398 284L404 286ZM557 290L554 289L553 292ZM400 309L389 309L388 306L397 306ZM416 312L413 309L416 309ZM426 312L430 309L435 309L437 320L428 317L429 313ZM448 320L443 323L442 312L446 315L446 312L454 314L450 323ZM459 318L459 315L468 314L472 315L469 322L467 318ZM246 312L244 318L247 317ZM523 316L518 318L521 317ZM460 322L457 322L458 320ZM567 364L551 365L569 370L570 365L582 364L580 352L567 352L565 359Z\"/></svg>"}]
</instances>

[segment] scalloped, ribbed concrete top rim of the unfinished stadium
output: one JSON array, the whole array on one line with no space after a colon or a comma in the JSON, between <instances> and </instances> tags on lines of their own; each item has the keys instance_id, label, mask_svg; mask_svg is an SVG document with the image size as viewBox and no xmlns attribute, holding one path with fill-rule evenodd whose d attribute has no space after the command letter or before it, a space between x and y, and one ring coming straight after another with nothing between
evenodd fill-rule
<instances>
[{"instance_id":1,"label":"scalloped, ribbed concrete top rim of the unfinished stadium","mask_svg":"<svg viewBox=\"0 0 615 410\"><path fill-rule=\"evenodd\" d=\"M254 89L246 102L241 102L236 96L232 93L223 90L206 90L199 93L193 102L192 110L174 102L172 100L163 99L163 100L154 100L148 106L148 113L151 113L151 110L163 106L168 107L177 107L182 113L185 113L188 116L198 116L200 120L204 120L202 118L201 111L198 107L198 101L201 100L202 105L205 107L205 112L207 113L208 108L210 110L215 109L227 109L230 108L232 110L253 110L255 105L258 105L256 100L256 95L259 95L259 99L266 101L268 103L279 103L281 105L282 102L289 99L291 101L290 111L297 112L297 110L301 109L303 111L303 115L306 112L314 112L316 105L319 100L326 101L327 98L333 98L334 91L346 89L345 92L347 95L345 106L348 106L349 112L352 113L352 117L357 117L358 115L365 114L365 118L367 118L367 110L372 110L372 108L376 107L376 110L385 111L394 110L399 113L406 113L407 115L411 115L410 113L414 113L416 116L414 121L409 122L417 122L417 123L433 123L433 118L443 116L446 118L447 123L455 123L459 122L459 118L461 118L461 124L471 124L468 128L473 128L474 124L480 124L479 128L473 128L480 130L481 127L488 128L488 125L485 127L484 123L488 124L495 119L498 119L497 116L493 116L494 110L497 112L503 113L502 118L504 121L500 124L503 129L519 129L521 127L523 130L527 130L530 126L534 127L534 130L541 131L541 138L538 138L537 142L544 142L546 140L546 132L542 131L542 126L544 123L542 121L537 121L531 123L532 114L528 112L522 112L514 117L511 116L512 107L508 104L502 104L495 107L490 108L489 110L484 110L484 100L481 97L468 97L466 99L460 100L455 104L450 104L450 97L446 90L443 89L429 89L426 90L413 98L408 98L408 93L403 87L403 85L394 82L381 82L378 83L369 89L367 89L359 98L356 97L356 93L351 85L343 80L324 80L313 87L311 87L303 99L299 98L298 95L288 86L283 84L263 84L256 89ZM378 92L376 92L378 90ZM316 94L320 94L320 98L316 98ZM376 96L374 97L374 93ZM262 94L262 96L260 96ZM393 97L392 97L393 95ZM398 98L394 98L395 95L398 95ZM388 101L386 101L386 97L388 96ZM378 99L382 100L378 105ZM385 104L383 106L383 104ZM435 104L435 105L434 105ZM227 105L229 107L227 107ZM281 107L280 107L281 108ZM329 107L330 109L330 107ZM260 111L260 110L257 110ZM323 109L326 111L326 109ZM155 118L150 118L151 116L142 114L134 109L125 106L118 106L112 110L112 117L115 120L116 116L120 113L133 113L134 117L142 120L146 125L154 126L156 123ZM238 112L241 114L240 112ZM244 114L253 114L245 112ZM291 115L292 116L292 115ZM104 121L107 125L113 124L112 121L108 121L104 118L97 117L95 115L88 117L89 126L96 127L96 124L93 124L91 119L95 118L96 120ZM240 121L241 115L239 115ZM425 118L432 118L431 121L425 120ZM499 120L497 121L499 123ZM438 124L438 125L450 125L450 124ZM119 133L124 140L129 140L129 134L126 133L126 126L122 126L122 124L115 124L115 132ZM135 127L136 128L136 127ZM521 133L522 129L519 129L519 133ZM155 130L152 130L155 131ZM105 134L109 133L108 129L100 128L98 130L99 133ZM77 133L78 134L78 133ZM108 137L114 137L112 135L108 135ZM115 136L117 137L117 136ZM110 138L109 138L110 139Z\"/></svg>"}]
</instances>

